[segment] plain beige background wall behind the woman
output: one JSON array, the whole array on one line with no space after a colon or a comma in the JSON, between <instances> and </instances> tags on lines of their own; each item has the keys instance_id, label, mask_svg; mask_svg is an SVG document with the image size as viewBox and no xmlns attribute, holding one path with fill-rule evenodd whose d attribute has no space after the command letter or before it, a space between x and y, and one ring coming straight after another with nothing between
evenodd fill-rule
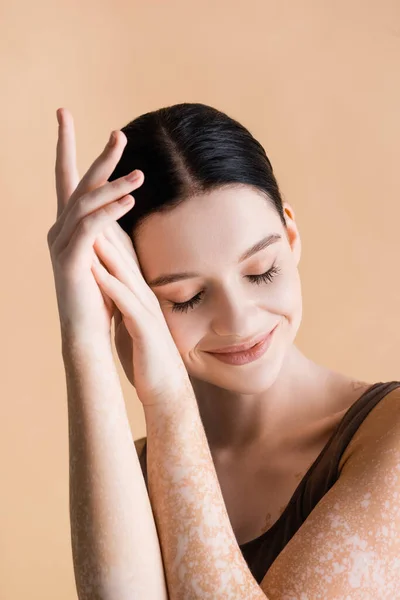
<instances>
[{"instance_id":1,"label":"plain beige background wall behind the woman","mask_svg":"<svg viewBox=\"0 0 400 600\"><path fill-rule=\"evenodd\" d=\"M76 598L66 388L46 235L56 109L81 174L112 129L178 102L264 145L303 242L311 358L400 378L398 0L1 5L0 598ZM120 368L134 438L141 405Z\"/></svg>"}]
</instances>

